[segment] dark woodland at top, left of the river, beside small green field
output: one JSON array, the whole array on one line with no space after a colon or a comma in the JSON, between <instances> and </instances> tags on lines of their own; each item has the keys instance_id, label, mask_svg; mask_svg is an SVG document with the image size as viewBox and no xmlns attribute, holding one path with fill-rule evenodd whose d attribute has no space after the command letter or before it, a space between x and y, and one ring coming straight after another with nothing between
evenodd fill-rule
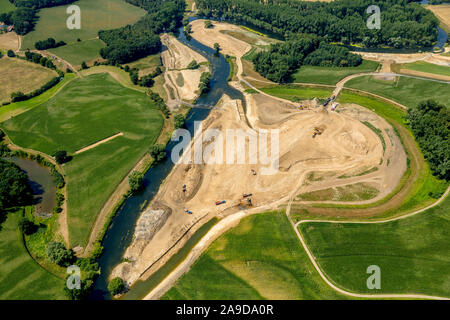
<instances>
[{"instance_id":1,"label":"dark woodland at top, left of the river, beside small green field","mask_svg":"<svg viewBox=\"0 0 450 320\"><path fill-rule=\"evenodd\" d=\"M99 31L107 47L100 51L112 63L127 63L161 50L159 33L175 31L181 24L184 0L127 0L147 14L134 25Z\"/></svg>"}]
</instances>

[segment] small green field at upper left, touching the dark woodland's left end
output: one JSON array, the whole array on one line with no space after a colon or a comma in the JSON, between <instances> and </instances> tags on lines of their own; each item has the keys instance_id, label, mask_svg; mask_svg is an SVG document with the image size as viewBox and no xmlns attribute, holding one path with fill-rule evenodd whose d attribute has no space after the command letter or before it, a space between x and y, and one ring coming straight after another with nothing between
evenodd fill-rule
<instances>
[{"instance_id":1,"label":"small green field at upper left, touching the dark woodland's left end","mask_svg":"<svg viewBox=\"0 0 450 320\"><path fill-rule=\"evenodd\" d=\"M91 39L81 42L74 42L49 51L58 57L68 61L74 66L81 63L100 59L100 49L105 47L105 43L100 39Z\"/></svg>"}]
</instances>

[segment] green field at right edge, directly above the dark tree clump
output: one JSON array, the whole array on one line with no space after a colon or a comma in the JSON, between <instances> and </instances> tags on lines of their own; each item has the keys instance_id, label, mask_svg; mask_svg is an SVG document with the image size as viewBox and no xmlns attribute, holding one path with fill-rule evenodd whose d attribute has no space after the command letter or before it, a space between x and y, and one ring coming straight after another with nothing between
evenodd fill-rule
<instances>
[{"instance_id":1,"label":"green field at right edge, directly above the dark tree clump","mask_svg":"<svg viewBox=\"0 0 450 320\"><path fill-rule=\"evenodd\" d=\"M410 108L427 99L434 99L444 104L450 101L450 84L436 81L408 77L399 77L396 81L385 81L365 76L352 79L345 86L391 98Z\"/></svg>"}]
</instances>

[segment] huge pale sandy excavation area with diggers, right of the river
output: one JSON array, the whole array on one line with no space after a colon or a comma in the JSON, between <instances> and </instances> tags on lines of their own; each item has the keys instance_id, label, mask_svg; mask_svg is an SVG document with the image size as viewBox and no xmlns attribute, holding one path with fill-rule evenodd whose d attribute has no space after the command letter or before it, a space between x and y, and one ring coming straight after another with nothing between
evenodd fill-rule
<instances>
[{"instance_id":1,"label":"huge pale sandy excavation area with diggers, right of the river","mask_svg":"<svg viewBox=\"0 0 450 320\"><path fill-rule=\"evenodd\" d=\"M220 150L225 156L229 155L226 152L227 129L240 129L256 136L261 130L268 130L267 149L271 150L276 139L272 140L270 130L279 130L278 170L266 175L264 170L276 167L275 162L272 165L262 163L259 156L256 163L251 162L250 155L257 154L261 148L251 148L250 139L237 151L245 155L244 164L204 161L195 164L192 150L185 152L139 219L134 241L124 255L127 262L118 265L112 277L120 276L129 285L141 277L147 278L212 217L222 218L287 201L296 189L304 192L329 188L333 184L367 181L380 190L381 197L395 188L406 170L406 155L392 128L367 109L346 105L338 113L309 103L310 107L300 110L297 105L261 94L246 94L246 100L248 120L240 101L224 97L202 124L204 134L207 129L215 129L221 135L197 133L191 147L202 146L210 160L216 155L221 158ZM361 121L368 121L383 131L386 150L379 136ZM315 128L322 134L313 138ZM223 146L220 137L224 140ZM378 170L358 176L373 167ZM333 174L323 174L322 179L306 184L311 172ZM343 174L349 178L337 178ZM244 194L252 196L244 197ZM247 199L251 199L251 207ZM222 200L226 203L216 205L216 201Z\"/></svg>"}]
</instances>

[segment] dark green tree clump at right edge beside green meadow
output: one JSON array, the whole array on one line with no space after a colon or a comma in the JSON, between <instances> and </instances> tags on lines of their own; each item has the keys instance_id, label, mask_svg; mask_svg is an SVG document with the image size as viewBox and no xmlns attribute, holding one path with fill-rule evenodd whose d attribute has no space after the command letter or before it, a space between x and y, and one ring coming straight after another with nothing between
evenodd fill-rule
<instances>
[{"instance_id":1,"label":"dark green tree clump at right edge beside green meadow","mask_svg":"<svg viewBox=\"0 0 450 320\"><path fill-rule=\"evenodd\" d=\"M408 120L433 174L449 181L450 109L429 100L409 109Z\"/></svg>"}]
</instances>

